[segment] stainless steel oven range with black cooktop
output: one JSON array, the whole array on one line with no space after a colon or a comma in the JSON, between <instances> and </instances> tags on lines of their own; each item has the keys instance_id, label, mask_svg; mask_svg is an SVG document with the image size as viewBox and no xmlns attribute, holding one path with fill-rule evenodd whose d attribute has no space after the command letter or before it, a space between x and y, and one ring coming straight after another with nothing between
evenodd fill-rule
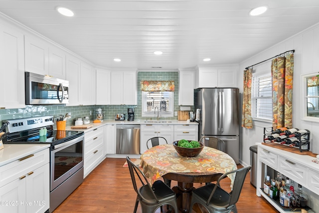
<instances>
[{"instance_id":1,"label":"stainless steel oven range with black cooktop","mask_svg":"<svg viewBox=\"0 0 319 213\"><path fill-rule=\"evenodd\" d=\"M8 144L50 144L50 213L83 182L84 132L53 130L53 116L7 120ZM39 135L45 128L46 134Z\"/></svg>"}]
</instances>

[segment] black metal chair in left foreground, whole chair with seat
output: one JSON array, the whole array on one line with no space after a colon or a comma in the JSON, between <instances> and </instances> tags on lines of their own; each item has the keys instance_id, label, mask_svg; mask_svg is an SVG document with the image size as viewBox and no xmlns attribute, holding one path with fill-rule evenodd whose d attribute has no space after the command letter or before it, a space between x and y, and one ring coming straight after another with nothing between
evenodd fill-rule
<instances>
[{"instance_id":1,"label":"black metal chair in left foreground, whole chair with seat","mask_svg":"<svg viewBox=\"0 0 319 213\"><path fill-rule=\"evenodd\" d=\"M129 156L126 157L126 160L128 162L133 187L137 193L134 213L137 211L139 202L143 213L154 213L159 208L162 212L163 205L172 206L174 212L178 213L176 194L162 181L156 181L153 186L151 186L144 173L130 160ZM139 189L136 183L136 176L142 184L142 187Z\"/></svg>"}]
</instances>

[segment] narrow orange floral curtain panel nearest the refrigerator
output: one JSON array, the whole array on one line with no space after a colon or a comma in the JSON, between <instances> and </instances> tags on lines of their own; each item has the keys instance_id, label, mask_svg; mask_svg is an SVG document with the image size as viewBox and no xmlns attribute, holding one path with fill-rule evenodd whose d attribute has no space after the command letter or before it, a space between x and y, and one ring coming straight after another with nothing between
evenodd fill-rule
<instances>
[{"instance_id":1,"label":"narrow orange floral curtain panel nearest the refrigerator","mask_svg":"<svg viewBox=\"0 0 319 213\"><path fill-rule=\"evenodd\" d=\"M241 126L247 129L253 128L253 119L251 116L251 85L253 69L244 70L244 93Z\"/></svg>"}]
</instances>

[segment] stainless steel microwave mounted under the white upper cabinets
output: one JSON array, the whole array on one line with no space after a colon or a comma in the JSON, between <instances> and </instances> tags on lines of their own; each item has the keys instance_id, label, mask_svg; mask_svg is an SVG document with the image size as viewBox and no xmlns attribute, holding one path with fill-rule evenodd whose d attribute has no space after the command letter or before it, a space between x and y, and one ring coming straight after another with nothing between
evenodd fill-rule
<instances>
[{"instance_id":1,"label":"stainless steel microwave mounted under the white upper cabinets","mask_svg":"<svg viewBox=\"0 0 319 213\"><path fill-rule=\"evenodd\" d=\"M69 81L25 72L25 104L68 104Z\"/></svg>"}]
</instances>

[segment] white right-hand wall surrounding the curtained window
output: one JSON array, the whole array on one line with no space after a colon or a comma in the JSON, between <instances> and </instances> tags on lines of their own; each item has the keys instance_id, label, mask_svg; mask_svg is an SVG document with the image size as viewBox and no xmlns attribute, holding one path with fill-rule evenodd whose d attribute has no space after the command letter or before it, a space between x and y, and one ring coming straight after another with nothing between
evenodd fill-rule
<instances>
[{"instance_id":1,"label":"white right-hand wall surrounding the curtained window","mask_svg":"<svg viewBox=\"0 0 319 213\"><path fill-rule=\"evenodd\" d=\"M295 49L294 53L294 85L293 85L293 126L299 129L308 129L311 132L311 151L319 153L319 122L302 120L302 102L305 98L301 94L301 75L319 71L319 23L290 38L268 48L267 50L246 59L239 65L238 87L243 92L243 70L245 67L256 64L288 50ZM254 72L263 72L271 69L271 60L254 66ZM240 163L250 165L249 147L263 140L263 127L271 127L271 123L253 122L253 129L243 128L242 153Z\"/></svg>"}]
</instances>

